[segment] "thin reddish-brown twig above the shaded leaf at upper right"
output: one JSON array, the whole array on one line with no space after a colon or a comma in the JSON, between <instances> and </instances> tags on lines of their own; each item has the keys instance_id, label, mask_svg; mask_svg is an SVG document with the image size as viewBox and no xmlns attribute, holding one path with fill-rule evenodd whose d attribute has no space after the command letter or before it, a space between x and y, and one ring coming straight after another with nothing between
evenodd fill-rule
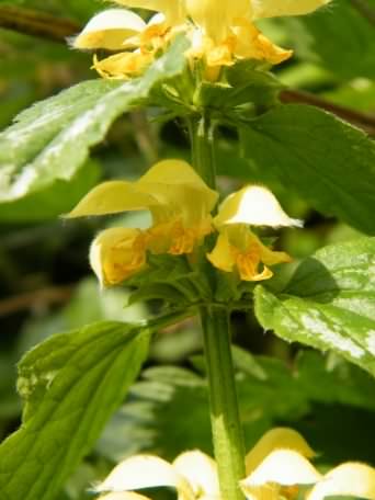
<instances>
[{"instance_id":1,"label":"thin reddish-brown twig above the shaded leaf at upper right","mask_svg":"<svg viewBox=\"0 0 375 500\"><path fill-rule=\"evenodd\" d=\"M284 103L310 104L329 111L352 125L362 128L368 135L375 136L375 115L373 114L362 113L346 106L333 104L309 92L302 92L299 90L284 90L281 92L280 99Z\"/></svg>"}]
</instances>

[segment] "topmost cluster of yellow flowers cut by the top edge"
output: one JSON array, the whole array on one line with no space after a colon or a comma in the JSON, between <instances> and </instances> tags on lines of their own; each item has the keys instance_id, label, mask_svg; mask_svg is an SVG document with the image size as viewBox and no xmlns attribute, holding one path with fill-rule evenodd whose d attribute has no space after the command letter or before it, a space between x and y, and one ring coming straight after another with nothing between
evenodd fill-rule
<instances>
[{"instance_id":1,"label":"topmost cluster of yellow flowers cut by the top edge","mask_svg":"<svg viewBox=\"0 0 375 500\"><path fill-rule=\"evenodd\" d=\"M254 22L264 18L303 15L330 0L115 0L128 8L154 12L146 23L126 9L96 14L73 39L80 49L107 49L116 54L94 67L104 78L132 78L164 50L178 33L191 39L189 59L203 60L206 76L216 79L219 68L236 60L254 59L276 65L287 59L285 50L268 39Z\"/></svg>"}]
</instances>

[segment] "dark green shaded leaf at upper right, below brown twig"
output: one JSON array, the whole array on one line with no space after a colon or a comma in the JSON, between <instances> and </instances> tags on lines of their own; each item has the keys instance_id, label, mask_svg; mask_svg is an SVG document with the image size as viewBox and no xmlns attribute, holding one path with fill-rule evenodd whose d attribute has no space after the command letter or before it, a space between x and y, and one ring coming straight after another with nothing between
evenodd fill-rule
<instances>
[{"instance_id":1,"label":"dark green shaded leaf at upper right, below brown twig","mask_svg":"<svg viewBox=\"0 0 375 500\"><path fill-rule=\"evenodd\" d=\"M312 106L279 106L241 128L241 177L280 182L318 211L375 235L375 145Z\"/></svg>"}]
</instances>

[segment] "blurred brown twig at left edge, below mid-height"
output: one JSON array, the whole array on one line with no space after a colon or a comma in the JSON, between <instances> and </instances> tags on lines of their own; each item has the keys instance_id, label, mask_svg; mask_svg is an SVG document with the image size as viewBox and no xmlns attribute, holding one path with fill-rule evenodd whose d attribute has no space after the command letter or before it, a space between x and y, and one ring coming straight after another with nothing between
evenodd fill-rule
<instances>
[{"instance_id":1,"label":"blurred brown twig at left edge, below mid-height","mask_svg":"<svg viewBox=\"0 0 375 500\"><path fill-rule=\"evenodd\" d=\"M52 286L0 300L0 317L35 307L64 304L69 300L73 289L72 285Z\"/></svg>"}]
</instances>

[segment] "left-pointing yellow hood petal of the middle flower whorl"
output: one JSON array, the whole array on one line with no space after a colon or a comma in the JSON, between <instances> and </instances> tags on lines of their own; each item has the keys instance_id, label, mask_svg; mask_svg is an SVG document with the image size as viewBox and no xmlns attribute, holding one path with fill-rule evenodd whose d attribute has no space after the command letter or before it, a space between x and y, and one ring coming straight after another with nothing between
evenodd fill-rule
<instances>
[{"instance_id":1,"label":"left-pointing yellow hood petal of the middle flower whorl","mask_svg":"<svg viewBox=\"0 0 375 500\"><path fill-rule=\"evenodd\" d=\"M125 211L143 211L156 205L148 193L139 193L136 182L109 181L96 185L65 217L117 214Z\"/></svg>"}]
</instances>

